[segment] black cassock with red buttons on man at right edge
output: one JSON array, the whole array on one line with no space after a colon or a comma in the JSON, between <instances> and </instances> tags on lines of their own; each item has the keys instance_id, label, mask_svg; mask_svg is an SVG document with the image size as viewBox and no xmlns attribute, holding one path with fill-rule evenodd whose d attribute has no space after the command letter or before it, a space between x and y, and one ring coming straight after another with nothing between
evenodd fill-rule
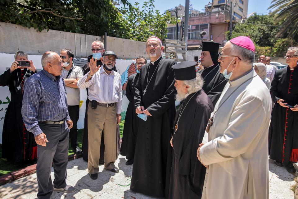
<instances>
[{"instance_id":1,"label":"black cassock with red buttons on man at right edge","mask_svg":"<svg viewBox=\"0 0 298 199\"><path fill-rule=\"evenodd\" d=\"M298 67L289 67L275 72L270 93L275 103L269 126L269 155L287 165L298 161L298 111L284 108L278 99L294 106L298 104Z\"/></svg>"}]
</instances>

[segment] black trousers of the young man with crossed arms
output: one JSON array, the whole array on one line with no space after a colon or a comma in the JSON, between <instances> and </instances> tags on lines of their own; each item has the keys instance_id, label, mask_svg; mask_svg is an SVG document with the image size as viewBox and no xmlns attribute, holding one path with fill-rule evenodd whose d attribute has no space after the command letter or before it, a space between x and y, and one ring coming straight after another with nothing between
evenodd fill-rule
<instances>
[{"instance_id":1,"label":"black trousers of the young man with crossed arms","mask_svg":"<svg viewBox=\"0 0 298 199\"><path fill-rule=\"evenodd\" d=\"M80 105L75 106L68 106L68 113L70 116L70 119L74 123L72 128L69 131L70 134L70 146L72 149L75 150L75 147L77 147L78 144L78 127L77 123L79 120L79 113L80 113Z\"/></svg>"}]
</instances>

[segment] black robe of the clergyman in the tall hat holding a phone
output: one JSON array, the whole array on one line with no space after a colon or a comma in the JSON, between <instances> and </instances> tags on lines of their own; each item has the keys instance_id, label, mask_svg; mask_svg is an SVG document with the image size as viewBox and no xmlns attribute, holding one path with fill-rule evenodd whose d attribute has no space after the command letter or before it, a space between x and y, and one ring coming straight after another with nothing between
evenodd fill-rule
<instances>
[{"instance_id":1,"label":"black robe of the clergyman in the tall hat holding a phone","mask_svg":"<svg viewBox=\"0 0 298 199\"><path fill-rule=\"evenodd\" d=\"M204 79L203 90L211 99L213 106L215 106L217 100L224 90L224 86L228 82L228 80L222 73L219 72L219 70L219 64L216 63L213 66L199 71L202 78Z\"/></svg>"}]
</instances>

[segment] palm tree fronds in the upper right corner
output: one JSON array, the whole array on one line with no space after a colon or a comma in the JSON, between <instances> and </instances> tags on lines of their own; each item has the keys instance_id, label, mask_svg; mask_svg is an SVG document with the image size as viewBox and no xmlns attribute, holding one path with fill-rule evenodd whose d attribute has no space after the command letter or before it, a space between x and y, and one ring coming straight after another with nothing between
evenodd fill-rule
<instances>
[{"instance_id":1,"label":"palm tree fronds in the upper right corner","mask_svg":"<svg viewBox=\"0 0 298 199\"><path fill-rule=\"evenodd\" d=\"M268 9L276 8L270 16L276 23L283 26L277 36L286 34L287 37L297 39L298 35L298 0L273 0Z\"/></svg>"}]
</instances>

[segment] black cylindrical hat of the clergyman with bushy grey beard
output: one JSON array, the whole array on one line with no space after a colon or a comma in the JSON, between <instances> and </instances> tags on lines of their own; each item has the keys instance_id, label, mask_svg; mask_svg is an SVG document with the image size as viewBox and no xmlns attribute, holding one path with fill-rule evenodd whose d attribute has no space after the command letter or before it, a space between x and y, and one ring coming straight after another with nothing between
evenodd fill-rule
<instances>
[{"instance_id":1,"label":"black cylindrical hat of the clergyman with bushy grey beard","mask_svg":"<svg viewBox=\"0 0 298 199\"><path fill-rule=\"evenodd\" d=\"M172 66L176 80L192 80L196 78L197 62L180 62Z\"/></svg>"}]
</instances>

